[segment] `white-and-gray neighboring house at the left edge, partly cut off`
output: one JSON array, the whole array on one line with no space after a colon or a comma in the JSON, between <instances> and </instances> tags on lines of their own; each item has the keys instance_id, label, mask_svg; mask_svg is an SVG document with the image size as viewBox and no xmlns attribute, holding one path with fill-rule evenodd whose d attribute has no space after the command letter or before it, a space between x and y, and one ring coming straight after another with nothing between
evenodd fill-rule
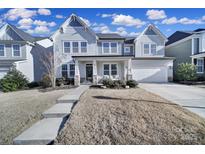
<instances>
[{"instance_id":1,"label":"white-and-gray neighboring house at the left edge, partly cut off","mask_svg":"<svg viewBox=\"0 0 205 154\"><path fill-rule=\"evenodd\" d=\"M39 51L34 50L39 48L43 40L46 39L32 37L14 25L5 24L0 29L0 79L15 66L30 82L41 80L44 72L37 53L46 49L41 47Z\"/></svg>"}]
</instances>

